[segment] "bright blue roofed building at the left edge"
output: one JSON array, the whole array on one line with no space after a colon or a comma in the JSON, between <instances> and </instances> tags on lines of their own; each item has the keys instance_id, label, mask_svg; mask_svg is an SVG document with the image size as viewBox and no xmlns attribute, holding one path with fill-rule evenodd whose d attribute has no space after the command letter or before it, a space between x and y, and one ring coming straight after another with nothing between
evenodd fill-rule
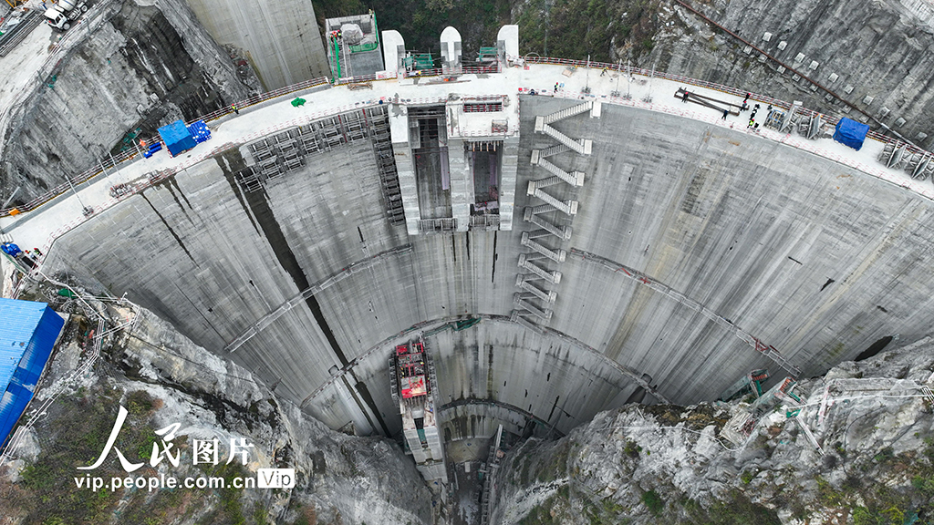
<instances>
[{"instance_id":1,"label":"bright blue roofed building at the left edge","mask_svg":"<svg viewBox=\"0 0 934 525\"><path fill-rule=\"evenodd\" d=\"M33 399L63 327L45 303L0 297L0 445Z\"/></svg>"}]
</instances>

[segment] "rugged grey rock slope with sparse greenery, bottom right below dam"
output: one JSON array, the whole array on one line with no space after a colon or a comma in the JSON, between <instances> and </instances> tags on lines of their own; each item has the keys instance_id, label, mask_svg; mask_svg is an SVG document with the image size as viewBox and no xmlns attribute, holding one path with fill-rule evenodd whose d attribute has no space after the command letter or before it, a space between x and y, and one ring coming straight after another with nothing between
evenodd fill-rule
<instances>
[{"instance_id":1,"label":"rugged grey rock slope with sparse greenery, bottom right below dam","mask_svg":"<svg viewBox=\"0 0 934 525\"><path fill-rule=\"evenodd\" d=\"M777 409L737 447L720 431L744 403L628 405L506 457L502 523L905 523L934 512L934 341L802 382L803 421ZM823 424L818 409L835 399ZM893 510L894 509L894 510Z\"/></svg>"}]
</instances>

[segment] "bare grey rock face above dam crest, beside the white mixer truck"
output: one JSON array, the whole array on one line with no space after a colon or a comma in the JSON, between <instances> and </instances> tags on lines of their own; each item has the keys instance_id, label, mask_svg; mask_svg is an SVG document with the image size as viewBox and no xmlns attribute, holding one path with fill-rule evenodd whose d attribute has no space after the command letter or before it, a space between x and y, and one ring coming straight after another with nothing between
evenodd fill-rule
<instances>
[{"instance_id":1,"label":"bare grey rock face above dam crest, beside the white mixer truck","mask_svg":"<svg viewBox=\"0 0 934 525\"><path fill-rule=\"evenodd\" d=\"M103 9L103 12L101 12ZM103 23L94 23L104 17ZM181 0L123 0L89 11L78 41L21 106L8 130L0 196L18 201L149 137L248 95L224 50ZM72 31L81 31L80 26ZM137 130L139 130L137 132ZM4 199L5 200L5 199Z\"/></svg>"}]
</instances>

